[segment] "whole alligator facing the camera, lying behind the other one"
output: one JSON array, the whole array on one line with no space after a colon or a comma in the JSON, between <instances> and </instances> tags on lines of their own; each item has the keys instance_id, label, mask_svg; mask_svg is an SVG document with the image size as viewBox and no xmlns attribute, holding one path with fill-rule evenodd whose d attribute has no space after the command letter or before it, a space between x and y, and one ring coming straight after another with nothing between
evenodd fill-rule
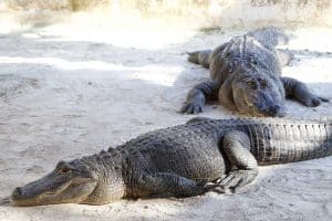
<instances>
[{"instance_id":1,"label":"whole alligator facing the camera, lying behind the other one","mask_svg":"<svg viewBox=\"0 0 332 221\"><path fill-rule=\"evenodd\" d=\"M295 99L308 107L328 98L310 92L291 77L281 77L281 66L293 53L276 49L288 43L288 35L269 27L235 36L214 51L188 53L188 61L210 71L210 80L197 84L187 95L180 112L198 114L207 99L217 101L230 110L251 116L284 116L284 99Z\"/></svg>"}]
</instances>

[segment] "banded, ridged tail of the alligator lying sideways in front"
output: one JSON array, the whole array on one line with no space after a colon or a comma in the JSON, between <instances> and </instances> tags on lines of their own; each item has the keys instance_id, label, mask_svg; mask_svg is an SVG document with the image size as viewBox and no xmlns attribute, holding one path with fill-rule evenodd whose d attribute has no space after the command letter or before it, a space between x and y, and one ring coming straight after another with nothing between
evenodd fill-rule
<instances>
[{"instance_id":1,"label":"banded, ridged tail of the alligator lying sideways in front","mask_svg":"<svg viewBox=\"0 0 332 221\"><path fill-rule=\"evenodd\" d=\"M332 120L329 118L302 120L302 124L276 124L271 129L257 128L253 154L260 165L276 165L332 155ZM255 135L255 133L251 133Z\"/></svg>"}]
</instances>

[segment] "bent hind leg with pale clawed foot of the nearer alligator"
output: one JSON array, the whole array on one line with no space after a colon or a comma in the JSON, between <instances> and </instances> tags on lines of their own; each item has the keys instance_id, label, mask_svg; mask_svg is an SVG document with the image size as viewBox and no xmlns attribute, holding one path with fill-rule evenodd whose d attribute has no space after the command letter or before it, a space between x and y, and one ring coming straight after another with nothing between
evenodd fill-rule
<instances>
[{"instance_id":1,"label":"bent hind leg with pale clawed foot of the nearer alligator","mask_svg":"<svg viewBox=\"0 0 332 221\"><path fill-rule=\"evenodd\" d=\"M256 178L258 173L257 160L250 152L249 137L242 131L228 131L222 139L222 150L231 169L215 191L236 193Z\"/></svg>"}]
</instances>

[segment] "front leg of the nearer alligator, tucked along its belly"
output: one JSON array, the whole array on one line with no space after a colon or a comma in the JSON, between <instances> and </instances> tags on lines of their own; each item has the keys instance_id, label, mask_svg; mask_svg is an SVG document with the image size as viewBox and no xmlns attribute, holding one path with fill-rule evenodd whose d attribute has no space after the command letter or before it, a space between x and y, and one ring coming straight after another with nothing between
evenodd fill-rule
<instances>
[{"instance_id":1,"label":"front leg of the nearer alligator, tucked along its belly","mask_svg":"<svg viewBox=\"0 0 332 221\"><path fill-rule=\"evenodd\" d=\"M168 172L143 173L137 188L158 197L191 197L207 191L205 185Z\"/></svg>"}]
</instances>

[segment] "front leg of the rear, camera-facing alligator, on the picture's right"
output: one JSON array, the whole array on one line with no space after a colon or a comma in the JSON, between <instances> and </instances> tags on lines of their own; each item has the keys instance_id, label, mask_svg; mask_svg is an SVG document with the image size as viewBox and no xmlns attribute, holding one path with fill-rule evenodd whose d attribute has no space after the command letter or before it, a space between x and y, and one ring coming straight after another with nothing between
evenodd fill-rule
<instances>
[{"instance_id":1,"label":"front leg of the rear, camera-facing alligator, on the picture's right","mask_svg":"<svg viewBox=\"0 0 332 221\"><path fill-rule=\"evenodd\" d=\"M286 96L288 98L295 99L308 107L315 107L321 104L321 102L329 102L328 98L312 94L308 86L291 77L281 77Z\"/></svg>"}]
</instances>

